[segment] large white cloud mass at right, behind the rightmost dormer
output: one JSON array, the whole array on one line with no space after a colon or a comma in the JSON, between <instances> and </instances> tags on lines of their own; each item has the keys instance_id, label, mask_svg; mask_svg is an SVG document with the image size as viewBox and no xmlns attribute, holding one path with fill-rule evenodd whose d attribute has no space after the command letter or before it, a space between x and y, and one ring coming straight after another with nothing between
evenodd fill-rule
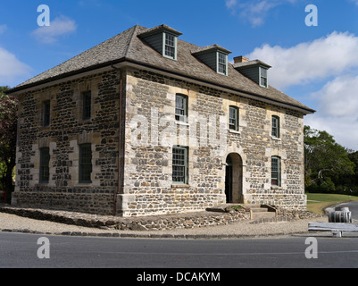
<instances>
[{"instance_id":1,"label":"large white cloud mass at right, behind the rightmost dormer","mask_svg":"<svg viewBox=\"0 0 358 286\"><path fill-rule=\"evenodd\" d=\"M358 37L332 32L296 46L263 45L247 55L272 66L270 84L279 89L323 82L311 94L316 114L304 123L326 130L344 147L358 150ZM313 107L313 106L311 106Z\"/></svg>"}]
</instances>

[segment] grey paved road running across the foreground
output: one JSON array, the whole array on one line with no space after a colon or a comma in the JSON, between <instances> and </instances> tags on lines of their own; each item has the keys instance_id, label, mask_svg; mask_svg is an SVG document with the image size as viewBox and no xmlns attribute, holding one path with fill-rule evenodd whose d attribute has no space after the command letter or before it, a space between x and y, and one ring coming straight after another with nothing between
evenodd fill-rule
<instances>
[{"instance_id":1,"label":"grey paved road running across the foreground","mask_svg":"<svg viewBox=\"0 0 358 286\"><path fill-rule=\"evenodd\" d=\"M0 233L0 267L243 268L358 267L357 238L317 238L318 258L305 257L306 237L256 240L126 240ZM40 251L46 254L46 251Z\"/></svg>"}]
</instances>

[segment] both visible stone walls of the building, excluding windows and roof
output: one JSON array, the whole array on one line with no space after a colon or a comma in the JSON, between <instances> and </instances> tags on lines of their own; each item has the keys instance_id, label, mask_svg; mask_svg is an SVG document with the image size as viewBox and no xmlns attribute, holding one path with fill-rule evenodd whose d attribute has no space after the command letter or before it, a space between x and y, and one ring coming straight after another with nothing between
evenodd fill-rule
<instances>
[{"instance_id":1,"label":"both visible stone walls of the building, excluding windows and roof","mask_svg":"<svg viewBox=\"0 0 358 286\"><path fill-rule=\"evenodd\" d=\"M87 90L93 117L83 121L81 94ZM174 120L176 94L187 97L188 122ZM107 71L34 89L20 100L12 196L19 206L123 216L202 211L226 202L226 159L232 155L239 177L235 203L305 209L303 115L292 110L134 68L123 69L122 78ZM46 100L49 127L42 126ZM238 131L228 130L229 105L239 108ZM279 139L271 138L272 115L280 117ZM92 147L92 183L79 184L84 143ZM188 150L185 185L172 184L175 145ZM51 156L46 184L39 183L41 147ZM282 162L276 188L271 156Z\"/></svg>"}]
</instances>

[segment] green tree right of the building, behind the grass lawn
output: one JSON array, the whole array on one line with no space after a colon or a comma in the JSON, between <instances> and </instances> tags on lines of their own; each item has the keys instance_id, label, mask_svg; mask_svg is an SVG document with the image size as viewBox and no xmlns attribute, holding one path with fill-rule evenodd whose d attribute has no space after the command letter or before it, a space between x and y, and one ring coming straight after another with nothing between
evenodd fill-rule
<instances>
[{"instance_id":1,"label":"green tree right of the building, behind the grass lawn","mask_svg":"<svg viewBox=\"0 0 358 286\"><path fill-rule=\"evenodd\" d=\"M304 171L306 189L335 191L335 178L354 174L348 151L326 131L304 126Z\"/></svg>"}]
</instances>

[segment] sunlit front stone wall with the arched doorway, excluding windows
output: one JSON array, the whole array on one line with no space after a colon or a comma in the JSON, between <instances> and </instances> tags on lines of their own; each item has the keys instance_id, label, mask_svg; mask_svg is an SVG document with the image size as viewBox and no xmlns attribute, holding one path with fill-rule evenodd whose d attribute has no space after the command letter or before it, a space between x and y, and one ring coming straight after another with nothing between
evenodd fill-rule
<instances>
[{"instance_id":1,"label":"sunlit front stone wall with the arched doorway, excluding windows","mask_svg":"<svg viewBox=\"0 0 358 286\"><path fill-rule=\"evenodd\" d=\"M176 94L187 96L188 123L174 120ZM225 203L229 154L242 161L237 183L243 201L237 203L305 209L302 114L134 69L128 70L126 100L121 214L192 212ZM237 132L227 129L229 105L240 111ZM280 117L280 139L271 138L273 114ZM188 148L187 185L172 184L174 145ZM271 156L282 160L282 184L276 188Z\"/></svg>"}]
</instances>

